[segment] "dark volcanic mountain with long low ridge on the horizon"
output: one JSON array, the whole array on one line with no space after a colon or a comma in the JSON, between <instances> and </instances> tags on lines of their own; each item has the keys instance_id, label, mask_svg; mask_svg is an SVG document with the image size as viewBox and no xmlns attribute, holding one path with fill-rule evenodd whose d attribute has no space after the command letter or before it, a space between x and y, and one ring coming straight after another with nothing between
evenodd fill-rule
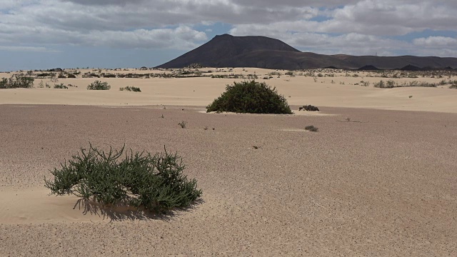
<instances>
[{"instance_id":1,"label":"dark volcanic mountain with long low ridge on the horizon","mask_svg":"<svg viewBox=\"0 0 457 257\"><path fill-rule=\"evenodd\" d=\"M339 69L401 69L405 66L429 69L457 68L457 58L419 56L349 56L301 52L292 46L265 36L215 36L208 43L158 66L184 68L191 64L207 67L257 67L264 69L318 69L334 66Z\"/></svg>"}]
</instances>

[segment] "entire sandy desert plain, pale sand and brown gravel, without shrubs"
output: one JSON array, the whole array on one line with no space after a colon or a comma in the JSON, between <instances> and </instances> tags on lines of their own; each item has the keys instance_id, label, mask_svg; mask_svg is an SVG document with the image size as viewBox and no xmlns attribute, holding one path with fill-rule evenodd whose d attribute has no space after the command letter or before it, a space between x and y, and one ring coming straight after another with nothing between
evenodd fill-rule
<instances>
[{"instance_id":1,"label":"entire sandy desert plain, pale sand and brown gravel, without shrubs","mask_svg":"<svg viewBox=\"0 0 457 257\"><path fill-rule=\"evenodd\" d=\"M296 114L206 114L241 78L0 89L0 256L457 256L456 89L378 89L388 79L368 71L212 70L256 74ZM443 79L457 77L392 80ZM95 80L111 90L86 90ZM201 201L153 216L84 213L75 196L50 196L44 176L89 142L177 151Z\"/></svg>"}]
</instances>

